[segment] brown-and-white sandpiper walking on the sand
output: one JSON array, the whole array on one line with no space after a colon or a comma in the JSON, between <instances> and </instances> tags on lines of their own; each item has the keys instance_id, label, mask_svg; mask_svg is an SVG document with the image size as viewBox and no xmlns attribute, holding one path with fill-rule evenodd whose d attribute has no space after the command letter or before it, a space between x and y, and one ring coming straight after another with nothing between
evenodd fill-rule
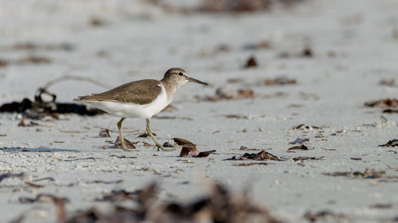
<instances>
[{"instance_id":1,"label":"brown-and-white sandpiper walking on the sand","mask_svg":"<svg viewBox=\"0 0 398 223\"><path fill-rule=\"evenodd\" d=\"M155 141L158 151L159 149L171 151L163 148L156 140L149 128L149 120L154 114L166 108L173 100L176 89L187 82L207 85L205 82L189 77L185 70L181 68L170 68L160 81L152 79L133 81L100 94L79 96L74 101L90 104L111 115L121 117L120 121L117 122L117 129L124 151L132 151L127 149L121 133L121 123L128 117L145 118L146 131Z\"/></svg>"}]
</instances>

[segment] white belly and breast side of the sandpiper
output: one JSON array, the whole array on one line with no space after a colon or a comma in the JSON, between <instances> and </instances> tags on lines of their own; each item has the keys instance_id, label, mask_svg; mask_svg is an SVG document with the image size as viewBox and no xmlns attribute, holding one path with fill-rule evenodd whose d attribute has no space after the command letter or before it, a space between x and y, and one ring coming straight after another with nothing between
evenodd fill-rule
<instances>
[{"instance_id":1,"label":"white belly and breast side of the sandpiper","mask_svg":"<svg viewBox=\"0 0 398 223\"><path fill-rule=\"evenodd\" d=\"M138 105L134 103L124 103L116 101L92 101L85 102L107 113L119 117L138 117L151 118L154 114L162 111L170 102L167 99L166 91L163 86L161 94L151 103Z\"/></svg>"}]
</instances>

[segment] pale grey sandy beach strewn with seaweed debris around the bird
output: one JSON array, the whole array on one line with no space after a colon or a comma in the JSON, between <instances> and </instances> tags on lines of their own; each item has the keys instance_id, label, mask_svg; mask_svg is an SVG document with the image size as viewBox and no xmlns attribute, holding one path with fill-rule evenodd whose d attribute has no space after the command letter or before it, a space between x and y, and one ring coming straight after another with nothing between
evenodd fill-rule
<instances>
[{"instance_id":1,"label":"pale grey sandy beach strewn with seaweed debris around the bird","mask_svg":"<svg viewBox=\"0 0 398 223\"><path fill-rule=\"evenodd\" d=\"M156 151L138 137L143 119L123 122L124 138L138 142L129 153L114 148L119 119L108 114L0 112L0 175L22 173L0 177L0 222L58 221L53 202L24 202L38 194L68 199L66 219L129 207L99 199L152 182L160 204L191 202L217 182L281 222L322 212L315 221L398 221L398 149L379 146L398 138L398 105L371 103L398 94L398 2L305 0L244 13L176 1L22 2L0 2L0 105L33 101L65 75L103 85L55 83L47 90L59 103L182 67L209 86L179 88L151 129L161 144L182 138L216 152ZM308 140L289 144L298 138ZM262 150L280 161L226 160Z\"/></svg>"}]
</instances>

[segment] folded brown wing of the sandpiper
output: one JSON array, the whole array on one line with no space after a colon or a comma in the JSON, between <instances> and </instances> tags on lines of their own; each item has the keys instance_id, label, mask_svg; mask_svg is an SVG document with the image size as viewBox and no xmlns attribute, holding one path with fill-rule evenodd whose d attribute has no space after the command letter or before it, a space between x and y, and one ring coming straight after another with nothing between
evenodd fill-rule
<instances>
[{"instance_id":1,"label":"folded brown wing of the sandpiper","mask_svg":"<svg viewBox=\"0 0 398 223\"><path fill-rule=\"evenodd\" d=\"M100 94L79 96L75 101L117 101L146 105L155 100L162 92L160 84L161 82L158 80L133 81Z\"/></svg>"}]
</instances>

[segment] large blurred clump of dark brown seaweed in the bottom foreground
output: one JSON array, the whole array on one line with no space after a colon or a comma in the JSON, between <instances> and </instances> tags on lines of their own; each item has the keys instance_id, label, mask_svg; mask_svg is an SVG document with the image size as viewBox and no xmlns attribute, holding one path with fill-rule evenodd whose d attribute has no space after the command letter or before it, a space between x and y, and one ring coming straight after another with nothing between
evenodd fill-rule
<instances>
[{"instance_id":1,"label":"large blurred clump of dark brown seaweed in the bottom foreground","mask_svg":"<svg viewBox=\"0 0 398 223\"><path fill-rule=\"evenodd\" d=\"M218 223L281 223L272 217L268 210L256 204L246 193L230 193L220 184L208 185L208 195L190 202L157 202L156 184L133 193L114 191L114 202L131 199L137 204L127 207L113 206L106 212L92 208L78 211L66 223L116 223L116 222L152 222L152 223L187 223L187 222L218 222ZM110 199L110 200L109 200ZM105 200L105 199L104 199Z\"/></svg>"}]
</instances>

